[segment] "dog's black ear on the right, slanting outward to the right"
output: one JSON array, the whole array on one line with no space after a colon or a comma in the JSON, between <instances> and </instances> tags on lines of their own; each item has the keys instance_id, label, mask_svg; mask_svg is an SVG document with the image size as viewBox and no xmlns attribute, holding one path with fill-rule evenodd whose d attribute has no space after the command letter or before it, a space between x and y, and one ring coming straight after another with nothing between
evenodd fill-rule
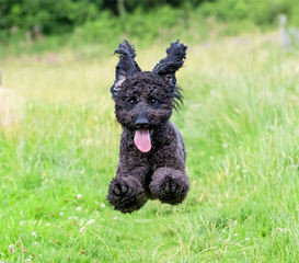
<instances>
[{"instance_id":1,"label":"dog's black ear on the right, slanting outward to the right","mask_svg":"<svg viewBox=\"0 0 299 263\"><path fill-rule=\"evenodd\" d=\"M153 68L153 72L160 75L165 82L171 87L172 91L175 90L176 79L175 72L179 70L186 58L187 47L180 43L180 41L171 43L166 49L168 56L159 61Z\"/></svg>"}]
</instances>

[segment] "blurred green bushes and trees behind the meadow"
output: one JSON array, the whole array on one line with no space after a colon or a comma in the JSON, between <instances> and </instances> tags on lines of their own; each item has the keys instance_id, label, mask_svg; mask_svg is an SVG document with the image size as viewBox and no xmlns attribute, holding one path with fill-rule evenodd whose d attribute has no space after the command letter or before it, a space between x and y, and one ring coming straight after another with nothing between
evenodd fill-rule
<instances>
[{"instance_id":1,"label":"blurred green bushes and trees behind the meadow","mask_svg":"<svg viewBox=\"0 0 299 263\"><path fill-rule=\"evenodd\" d=\"M111 48L123 38L139 46L203 42L273 28L280 13L299 25L298 0L0 0L0 42L19 52L82 43Z\"/></svg>"}]
</instances>

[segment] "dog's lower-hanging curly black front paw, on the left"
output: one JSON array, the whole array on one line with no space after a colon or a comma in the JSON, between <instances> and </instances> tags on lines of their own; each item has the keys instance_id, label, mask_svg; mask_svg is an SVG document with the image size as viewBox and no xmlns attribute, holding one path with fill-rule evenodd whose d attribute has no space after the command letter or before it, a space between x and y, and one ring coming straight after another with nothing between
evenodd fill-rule
<instances>
[{"instance_id":1,"label":"dog's lower-hanging curly black front paw, on the left","mask_svg":"<svg viewBox=\"0 0 299 263\"><path fill-rule=\"evenodd\" d=\"M108 203L122 213L131 213L139 209L147 197L141 184L131 176L115 178L110 184Z\"/></svg>"}]
</instances>

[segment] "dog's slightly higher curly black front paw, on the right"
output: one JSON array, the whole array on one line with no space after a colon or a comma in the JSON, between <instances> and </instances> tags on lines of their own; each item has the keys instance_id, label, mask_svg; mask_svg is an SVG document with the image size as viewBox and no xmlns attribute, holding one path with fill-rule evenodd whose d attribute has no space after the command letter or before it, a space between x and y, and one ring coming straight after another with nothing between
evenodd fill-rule
<instances>
[{"instance_id":1,"label":"dog's slightly higher curly black front paw, on the right","mask_svg":"<svg viewBox=\"0 0 299 263\"><path fill-rule=\"evenodd\" d=\"M182 203L189 184L184 172L171 168L160 168L152 175L150 193L162 203L176 205Z\"/></svg>"}]
</instances>

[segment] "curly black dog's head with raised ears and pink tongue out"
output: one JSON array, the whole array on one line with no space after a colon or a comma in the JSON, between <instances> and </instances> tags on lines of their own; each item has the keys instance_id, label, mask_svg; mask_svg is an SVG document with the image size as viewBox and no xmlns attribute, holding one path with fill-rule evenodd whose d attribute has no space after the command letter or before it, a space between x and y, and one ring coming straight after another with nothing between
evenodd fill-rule
<instances>
[{"instance_id":1,"label":"curly black dog's head with raised ears and pink tongue out","mask_svg":"<svg viewBox=\"0 0 299 263\"><path fill-rule=\"evenodd\" d=\"M184 64L186 49L179 41L172 43L166 57L152 71L141 71L135 61L135 49L127 41L115 50L119 61L111 92L116 118L135 133L135 144L142 152L151 149L151 132L165 123L182 102L175 72Z\"/></svg>"}]
</instances>

